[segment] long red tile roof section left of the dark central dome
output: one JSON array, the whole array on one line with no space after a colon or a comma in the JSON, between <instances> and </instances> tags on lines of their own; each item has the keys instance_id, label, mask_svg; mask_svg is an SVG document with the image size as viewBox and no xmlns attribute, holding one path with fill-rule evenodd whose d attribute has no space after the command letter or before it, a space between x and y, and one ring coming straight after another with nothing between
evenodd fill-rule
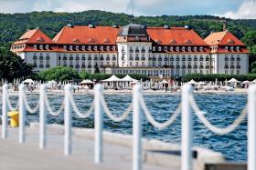
<instances>
[{"instance_id":1,"label":"long red tile roof section left of the dark central dome","mask_svg":"<svg viewBox=\"0 0 256 170\"><path fill-rule=\"evenodd\" d=\"M65 26L53 38L57 44L114 45L119 28L112 26Z\"/></svg>"}]
</instances>

